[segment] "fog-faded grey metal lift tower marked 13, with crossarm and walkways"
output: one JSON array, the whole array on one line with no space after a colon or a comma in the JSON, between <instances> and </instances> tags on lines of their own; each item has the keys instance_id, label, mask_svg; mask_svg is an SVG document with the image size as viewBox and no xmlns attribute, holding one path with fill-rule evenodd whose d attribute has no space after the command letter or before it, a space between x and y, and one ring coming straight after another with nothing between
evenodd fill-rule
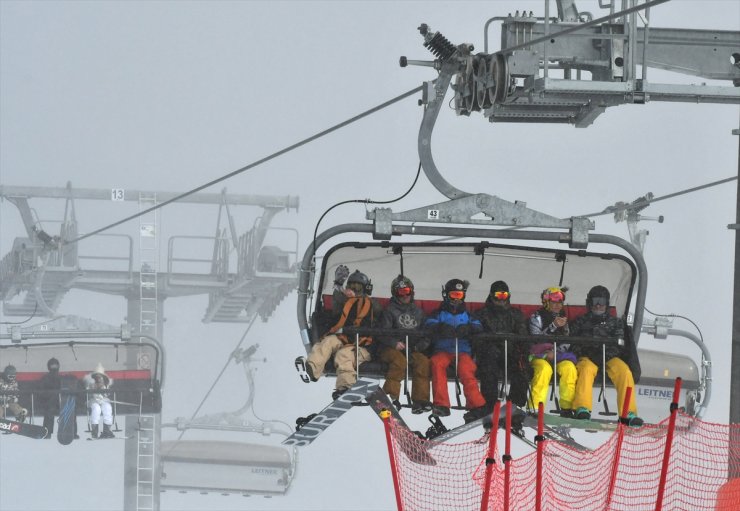
<instances>
[{"instance_id":1,"label":"fog-faded grey metal lift tower marked 13, with crossarm and walkways","mask_svg":"<svg viewBox=\"0 0 740 511\"><path fill-rule=\"evenodd\" d=\"M162 340L164 302L178 296L208 294L204 322L247 323L256 316L266 320L296 287L297 231L270 224L277 213L297 209L298 198L233 195L225 190L187 196L177 202L217 206L215 234L171 236L163 254L156 206L177 196L148 190L76 189L69 183L65 188L0 186L0 199L17 207L26 231L0 260L3 313L52 318L67 292L80 289L126 300L132 342ZM41 220L31 207L31 201L39 199L64 200L63 217ZM138 234L101 233L76 243L80 236L75 201L80 200L136 202ZM261 208L253 226L241 235L230 209L237 206ZM58 230L51 224L58 224ZM283 244L287 231L289 247L266 244L275 230L281 231ZM127 356L136 355L127 351ZM142 358L128 363L138 367L147 362ZM126 417L127 511L159 509L160 426L158 413Z\"/></svg>"}]
</instances>

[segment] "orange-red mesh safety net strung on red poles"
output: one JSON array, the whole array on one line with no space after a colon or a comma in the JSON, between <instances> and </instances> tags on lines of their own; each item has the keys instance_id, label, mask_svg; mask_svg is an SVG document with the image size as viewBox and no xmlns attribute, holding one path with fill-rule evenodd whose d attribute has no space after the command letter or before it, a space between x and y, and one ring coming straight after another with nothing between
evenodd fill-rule
<instances>
[{"instance_id":1,"label":"orange-red mesh safety net strung on red poles","mask_svg":"<svg viewBox=\"0 0 740 511\"><path fill-rule=\"evenodd\" d=\"M599 448L576 450L543 442L543 511L653 511L666 447L668 419L623 427ZM391 421L396 476L404 511L481 509L488 439L466 443L421 440ZM740 425L712 424L679 413L663 488L662 510L740 509ZM514 439L513 441L516 441ZM619 452L619 454L617 454ZM536 452L512 459L509 509L536 508ZM501 445L494 456L487 509L504 510ZM616 464L616 465L615 465ZM732 503L734 508L722 507Z\"/></svg>"}]
</instances>

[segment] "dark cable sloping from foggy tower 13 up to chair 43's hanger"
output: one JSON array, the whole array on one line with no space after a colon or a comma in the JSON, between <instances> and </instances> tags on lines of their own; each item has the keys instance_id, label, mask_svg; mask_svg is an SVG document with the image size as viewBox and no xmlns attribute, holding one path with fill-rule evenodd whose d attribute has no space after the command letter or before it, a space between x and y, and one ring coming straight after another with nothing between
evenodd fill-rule
<instances>
[{"instance_id":1,"label":"dark cable sloping from foggy tower 13 up to chair 43's hanger","mask_svg":"<svg viewBox=\"0 0 740 511\"><path fill-rule=\"evenodd\" d=\"M234 176L236 176L238 174L241 174L242 172L245 172L247 170L250 170L250 169L252 169L252 168L254 168L254 167L258 166L258 165L261 165L261 164L266 163L266 162L268 162L268 161L270 161L270 160L272 160L274 158L277 158L278 156L281 156L281 155L283 155L285 153L288 153L288 152L292 151L293 149L297 149L297 148L299 148L299 147L301 147L301 146L303 146L305 144L308 144L309 142L313 142L314 140L317 140L317 139L323 137L324 135L328 135L329 133L332 133L332 132L334 132L334 131L336 131L336 130L338 130L340 128L344 128L345 126L347 126L349 124L352 124L353 122L358 121L358 120L362 119L363 117L367 117L370 114L374 114L375 112L377 112L379 110L382 110L383 108L385 108L387 106L392 105L393 103L397 103L398 101L401 101L402 99L406 99L407 97L412 96L412 95L416 94L417 92L421 91L423 89L423 87L424 87L423 85L420 85L420 86L418 86L418 87L416 87L414 89L411 89L411 90L409 90L407 92L404 92L400 96L396 96L395 98L389 99L388 101L385 101L385 102L383 102L383 103L381 103L381 104L379 104L377 106L374 106L373 108L371 108L369 110L365 110L364 112L359 113L359 114L355 115L354 117L350 117L349 119L347 119L345 121L342 121L339 124L335 124L334 126L332 126L330 128L327 128L327 129L325 129L323 131L320 131L319 133L316 133L315 135L311 135L310 137L305 138L305 139L301 140L300 142L296 142L293 145L290 145L288 147L285 147L283 149L280 149L279 151L276 151L276 152L270 154L269 156L265 156L262 159L259 159L259 160L255 161L255 162L250 163L249 165L245 165L244 167L241 167L241 168L239 168L237 170L234 170L232 172L229 172L228 174L224 174L221 177L218 177L216 179L213 179L211 181L208 181L207 183L202 184L202 185L200 185L200 186L198 186L196 188L193 188L191 190L188 190L187 192L183 192L183 193L181 193L179 195L176 195L175 197L172 197L171 199L168 199L168 200L166 200L164 202L161 202L159 204L155 204L154 206L152 206L150 208L147 208L145 210L139 211L136 214L127 216L127 217L125 217L125 218L123 218L121 220L118 220L117 222L113 222L112 224L109 224L109 225L106 225L106 226L101 227L99 229L96 229L94 231L85 233L82 236L78 236L77 238L75 238L73 240L69 240L69 241L64 241L63 240L62 241L62 244L63 245L70 245L72 243L77 243L79 241L84 240L85 238L89 238L90 236L94 236L96 234L100 234L103 231L107 231L109 229L112 229L113 227L117 227L117 226L119 226L121 224L124 224L126 222L129 222L129 221L134 220L136 218L139 218L140 216L143 216L143 215L146 215L148 213L151 213L152 211L155 211L157 209L163 208L164 206L167 206L167 205L169 205L169 204L171 204L173 202L176 202L176 201L178 201L180 199L184 199L185 197L188 197L189 195L192 195L194 193L200 192L201 190L204 190L204 189L206 189L208 187L211 187L211 186L213 186L215 184L218 184L221 181L225 181L227 179L230 179L230 178L232 178L232 177L234 177Z\"/></svg>"}]
</instances>

